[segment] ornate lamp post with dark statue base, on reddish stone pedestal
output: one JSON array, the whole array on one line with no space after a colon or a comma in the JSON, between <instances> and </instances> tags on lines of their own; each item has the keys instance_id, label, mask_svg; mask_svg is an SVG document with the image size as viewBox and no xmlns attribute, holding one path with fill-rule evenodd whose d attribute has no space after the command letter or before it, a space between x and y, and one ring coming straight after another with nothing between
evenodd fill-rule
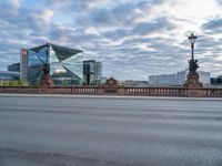
<instances>
[{"instance_id":1,"label":"ornate lamp post with dark statue base, on reddish stone pedestal","mask_svg":"<svg viewBox=\"0 0 222 166\"><path fill-rule=\"evenodd\" d=\"M189 61L189 74L184 86L191 89L202 87L202 83L199 81L199 74L196 73L196 69L199 68L198 60L194 59L194 43L196 38L193 32L188 37L191 43L191 60Z\"/></svg>"}]
</instances>

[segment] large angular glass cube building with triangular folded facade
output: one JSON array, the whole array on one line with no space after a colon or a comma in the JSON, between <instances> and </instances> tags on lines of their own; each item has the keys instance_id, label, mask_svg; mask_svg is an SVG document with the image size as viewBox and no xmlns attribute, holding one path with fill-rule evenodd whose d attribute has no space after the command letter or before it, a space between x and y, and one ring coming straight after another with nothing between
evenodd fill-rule
<instances>
[{"instance_id":1,"label":"large angular glass cube building with triangular folded facade","mask_svg":"<svg viewBox=\"0 0 222 166\"><path fill-rule=\"evenodd\" d=\"M39 85L46 68L54 85L82 85L83 52L51 43L29 49L29 84Z\"/></svg>"}]
</instances>

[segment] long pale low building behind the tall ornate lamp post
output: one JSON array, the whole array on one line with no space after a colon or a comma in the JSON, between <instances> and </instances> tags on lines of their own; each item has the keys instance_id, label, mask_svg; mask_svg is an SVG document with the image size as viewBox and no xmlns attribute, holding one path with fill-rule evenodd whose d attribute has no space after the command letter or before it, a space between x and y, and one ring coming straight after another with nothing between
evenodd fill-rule
<instances>
[{"instance_id":1,"label":"long pale low building behind the tall ornate lamp post","mask_svg":"<svg viewBox=\"0 0 222 166\"><path fill-rule=\"evenodd\" d=\"M200 76L200 82L203 84L211 83L211 73L198 71ZM150 85L183 85L186 81L189 70L178 72L175 74L162 74L162 75L150 75L149 84Z\"/></svg>"}]
</instances>

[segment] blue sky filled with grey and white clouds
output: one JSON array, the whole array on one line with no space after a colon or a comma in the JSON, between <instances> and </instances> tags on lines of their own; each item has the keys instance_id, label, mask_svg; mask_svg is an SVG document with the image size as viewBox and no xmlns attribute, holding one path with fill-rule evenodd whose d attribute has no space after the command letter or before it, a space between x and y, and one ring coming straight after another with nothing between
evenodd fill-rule
<instances>
[{"instance_id":1,"label":"blue sky filled with grey and white clouds","mask_svg":"<svg viewBox=\"0 0 222 166\"><path fill-rule=\"evenodd\" d=\"M103 76L148 80L188 69L222 75L222 0L0 0L0 70L50 42L103 64Z\"/></svg>"}]
</instances>

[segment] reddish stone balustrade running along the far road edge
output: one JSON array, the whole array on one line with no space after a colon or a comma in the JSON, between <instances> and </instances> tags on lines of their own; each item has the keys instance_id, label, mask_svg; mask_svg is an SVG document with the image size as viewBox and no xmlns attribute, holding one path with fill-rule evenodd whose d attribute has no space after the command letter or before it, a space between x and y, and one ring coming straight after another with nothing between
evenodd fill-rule
<instances>
[{"instance_id":1,"label":"reddish stone balustrade running along the far road edge","mask_svg":"<svg viewBox=\"0 0 222 166\"><path fill-rule=\"evenodd\" d=\"M0 93L222 97L222 89L124 86L0 86Z\"/></svg>"}]
</instances>

